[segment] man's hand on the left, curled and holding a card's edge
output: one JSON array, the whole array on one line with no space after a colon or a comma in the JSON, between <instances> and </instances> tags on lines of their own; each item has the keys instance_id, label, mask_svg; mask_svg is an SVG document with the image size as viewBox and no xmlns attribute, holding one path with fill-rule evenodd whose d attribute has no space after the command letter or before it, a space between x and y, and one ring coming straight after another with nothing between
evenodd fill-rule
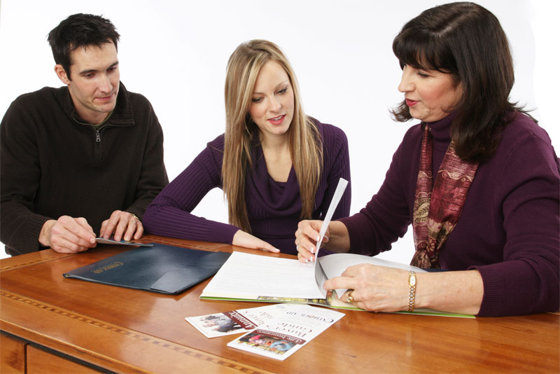
<instances>
[{"instance_id":1,"label":"man's hand on the left, curled and holding a card's edge","mask_svg":"<svg viewBox=\"0 0 560 374\"><path fill-rule=\"evenodd\" d=\"M87 251L96 246L95 234L85 218L61 216L43 224L39 243L65 254Z\"/></svg>"}]
</instances>

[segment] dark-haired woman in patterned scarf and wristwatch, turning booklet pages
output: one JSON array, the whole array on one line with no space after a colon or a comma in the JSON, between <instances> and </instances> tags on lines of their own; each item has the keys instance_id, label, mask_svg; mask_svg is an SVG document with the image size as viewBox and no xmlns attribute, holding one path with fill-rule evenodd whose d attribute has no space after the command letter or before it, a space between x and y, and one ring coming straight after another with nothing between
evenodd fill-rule
<instances>
[{"instance_id":1,"label":"dark-haired woman in patterned scarf and wristwatch, turning booklet pages","mask_svg":"<svg viewBox=\"0 0 560 374\"><path fill-rule=\"evenodd\" d=\"M514 82L496 17L472 3L424 11L395 37L397 120L405 134L384 184L358 214L333 221L325 247L375 255L412 223L414 274L352 266L325 289L374 311L429 307L498 316L555 311L560 296L559 160L542 128L508 100ZM302 221L300 261L321 221Z\"/></svg>"}]
</instances>

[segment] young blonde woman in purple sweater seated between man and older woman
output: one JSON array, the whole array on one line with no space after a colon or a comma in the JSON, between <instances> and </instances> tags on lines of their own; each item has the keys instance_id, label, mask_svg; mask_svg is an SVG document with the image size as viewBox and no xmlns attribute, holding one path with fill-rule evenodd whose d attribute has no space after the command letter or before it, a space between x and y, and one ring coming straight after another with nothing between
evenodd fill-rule
<instances>
[{"instance_id":1,"label":"young blonde woman in purple sweater seated between man and older woman","mask_svg":"<svg viewBox=\"0 0 560 374\"><path fill-rule=\"evenodd\" d=\"M146 232L297 254L298 221L322 219L339 178L350 180L346 135L305 115L290 63L264 40L230 56L225 114L225 134L148 207ZM229 224L190 214L216 187L228 200ZM349 210L347 188L333 219Z\"/></svg>"}]
</instances>

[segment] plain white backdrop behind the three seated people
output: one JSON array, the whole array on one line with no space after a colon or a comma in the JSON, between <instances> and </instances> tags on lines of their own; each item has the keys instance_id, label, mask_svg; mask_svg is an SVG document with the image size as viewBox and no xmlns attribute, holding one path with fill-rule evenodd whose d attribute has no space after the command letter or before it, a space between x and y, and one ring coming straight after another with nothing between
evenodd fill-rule
<instances>
[{"instance_id":1,"label":"plain white backdrop behind the three seated people","mask_svg":"<svg viewBox=\"0 0 560 374\"><path fill-rule=\"evenodd\" d=\"M121 34L121 80L128 90L148 97L158 114L173 179L224 130L223 84L232 51L248 39L268 39L292 62L305 111L346 132L355 213L377 192L412 125L395 123L388 115L388 108L402 100L393 38L407 20L443 2L2 0L0 115L22 93L62 85L46 41L50 29L73 13L104 15ZM535 109L533 116L558 144L554 115L560 59L552 25L559 2L478 2L498 17L510 39L516 71L512 100ZM221 190L207 195L194 213L226 222ZM409 262L411 231L381 256Z\"/></svg>"}]
</instances>

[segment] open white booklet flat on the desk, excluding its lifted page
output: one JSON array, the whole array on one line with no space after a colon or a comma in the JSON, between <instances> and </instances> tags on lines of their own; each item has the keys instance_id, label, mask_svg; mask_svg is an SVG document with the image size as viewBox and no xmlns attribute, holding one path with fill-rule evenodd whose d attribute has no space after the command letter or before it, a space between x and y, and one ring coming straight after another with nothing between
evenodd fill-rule
<instances>
[{"instance_id":1,"label":"open white booklet flat on the desk, excluding its lifted page","mask_svg":"<svg viewBox=\"0 0 560 374\"><path fill-rule=\"evenodd\" d=\"M233 252L214 275L200 296L207 300L244 300L267 303L307 303L337 309L360 310L339 300L337 294L323 289L326 279L338 277L351 265L371 263L425 272L411 265L386 261L358 254L330 254L314 263L301 263L290 258L276 258L257 254ZM346 290L337 290L342 295ZM435 310L416 309L404 314L426 314L447 317L474 318L465 314L451 314Z\"/></svg>"}]
</instances>

